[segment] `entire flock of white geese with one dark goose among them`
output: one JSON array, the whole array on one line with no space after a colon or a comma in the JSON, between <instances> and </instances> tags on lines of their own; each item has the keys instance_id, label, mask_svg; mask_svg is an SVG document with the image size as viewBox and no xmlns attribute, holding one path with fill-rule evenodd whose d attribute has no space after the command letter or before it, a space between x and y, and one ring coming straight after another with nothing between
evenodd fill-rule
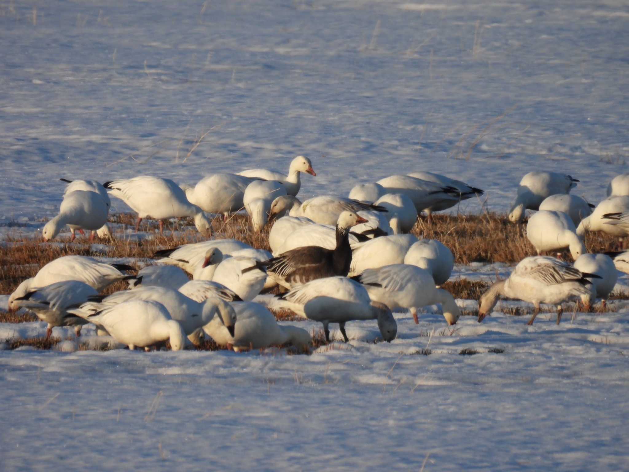
<instances>
[{"instance_id":1,"label":"entire flock of white geese with one dark goose among them","mask_svg":"<svg viewBox=\"0 0 629 472\"><path fill-rule=\"evenodd\" d=\"M110 196L137 213L136 231L144 219L159 220L163 232L165 220L187 216L208 240L158 250L157 262L136 274L126 264L59 257L19 284L9 297L9 310L34 312L48 323L47 337L53 327L74 326L80 335L83 325L93 323L97 334L111 335L130 349L169 340L179 350L198 344L204 335L236 351L284 344L308 349L306 330L277 323L267 306L253 301L277 285L283 293L272 306L321 322L328 341L330 323L338 323L347 342L345 323L377 320L382 339L391 342L397 334L391 310L400 308L418 323L418 308L439 304L448 325L457 323L460 309L440 288L452 273L452 252L438 240L409 232L421 212L430 223L434 211L480 196L481 189L413 172L357 185L348 198L300 201L301 174L316 176L311 161L300 155L288 174L250 169L212 174L195 186L152 176L102 185L62 179L68 185L59 214L43 227L45 241L66 226L71 240L76 231L90 231L91 240L95 234L111 236ZM533 303L528 324L540 303L557 306L559 324L562 303L581 300L589 306L596 298L605 303L616 284L616 268L629 271L629 254L587 254L583 242L586 231L629 235L629 174L615 177L608 198L596 207L570 194L577 182L555 172L529 172L521 179L508 218L519 223L525 210L537 211L526 223L526 235L538 256L523 259L508 279L482 295L479 322L504 296ZM236 239L211 239L208 213L228 218L243 208L255 231L272 224L272 252ZM566 248L574 264L539 255ZM128 290L101 295L121 280L128 281Z\"/></svg>"}]
</instances>

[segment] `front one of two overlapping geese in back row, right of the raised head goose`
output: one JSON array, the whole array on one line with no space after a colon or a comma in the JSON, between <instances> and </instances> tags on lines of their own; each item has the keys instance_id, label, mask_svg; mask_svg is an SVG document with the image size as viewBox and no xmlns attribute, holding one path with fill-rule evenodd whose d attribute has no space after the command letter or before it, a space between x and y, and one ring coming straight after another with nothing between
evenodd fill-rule
<instances>
[{"instance_id":1,"label":"front one of two overlapping geese in back row, right of the raised head goose","mask_svg":"<svg viewBox=\"0 0 629 472\"><path fill-rule=\"evenodd\" d=\"M389 176L380 179L378 183L387 193L401 193L408 196L413 201L418 214L426 210L429 223L432 222L433 208L450 208L459 202L458 189L411 176Z\"/></svg>"}]
</instances>

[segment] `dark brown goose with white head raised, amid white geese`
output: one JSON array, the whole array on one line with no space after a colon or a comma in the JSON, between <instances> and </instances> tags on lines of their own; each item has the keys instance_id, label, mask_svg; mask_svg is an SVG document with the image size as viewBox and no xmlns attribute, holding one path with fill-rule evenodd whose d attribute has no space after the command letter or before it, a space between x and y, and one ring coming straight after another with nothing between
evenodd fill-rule
<instances>
[{"instance_id":1,"label":"dark brown goose with white head raised, amid white geese","mask_svg":"<svg viewBox=\"0 0 629 472\"><path fill-rule=\"evenodd\" d=\"M261 264L267 269L270 278L289 289L313 279L347 276L352 262L349 230L365 221L352 211L343 211L338 217L335 249L315 245L298 247Z\"/></svg>"}]
</instances>

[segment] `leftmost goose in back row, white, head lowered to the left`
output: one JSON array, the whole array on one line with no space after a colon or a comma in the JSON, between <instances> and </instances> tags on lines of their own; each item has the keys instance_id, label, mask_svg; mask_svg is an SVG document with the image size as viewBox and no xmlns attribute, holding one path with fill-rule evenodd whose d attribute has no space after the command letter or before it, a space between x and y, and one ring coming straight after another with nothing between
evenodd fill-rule
<instances>
[{"instance_id":1,"label":"leftmost goose in back row, white, head lowered to the left","mask_svg":"<svg viewBox=\"0 0 629 472\"><path fill-rule=\"evenodd\" d=\"M43 227L43 240L55 239L61 229L68 225L72 232L70 241L74 241L75 230L96 231L107 222L108 212L109 207L96 192L75 190L66 193L59 207L59 214ZM94 233L89 240L94 240Z\"/></svg>"}]
</instances>

